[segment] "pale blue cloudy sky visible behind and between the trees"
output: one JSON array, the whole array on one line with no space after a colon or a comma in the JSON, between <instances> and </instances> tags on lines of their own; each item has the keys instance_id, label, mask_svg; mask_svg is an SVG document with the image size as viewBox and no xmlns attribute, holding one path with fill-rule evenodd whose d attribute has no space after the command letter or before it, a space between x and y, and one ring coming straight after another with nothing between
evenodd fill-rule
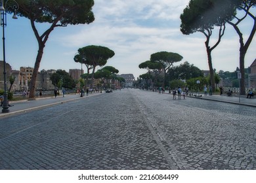
<instances>
[{"instance_id":1,"label":"pale blue cloudy sky visible behind and between the trees","mask_svg":"<svg viewBox=\"0 0 256 183\"><path fill-rule=\"evenodd\" d=\"M180 31L179 16L188 2L95 0L95 22L54 29L46 44L39 70L81 69L81 64L75 63L73 58L78 48L88 45L106 46L114 50L115 56L108 60L107 65L116 67L119 74L132 73L135 78L146 73L146 70L139 69L139 64L160 51L181 54L183 59L178 65L188 61L202 70L208 70L204 35L182 35ZM252 24L248 18L241 26L245 39ZM213 67L217 71L234 71L239 66L238 35L230 25L227 26L221 44L212 52ZM47 24L37 25L41 32L47 27ZM12 20L8 16L5 38L6 59L12 69L34 67L38 46L29 20ZM1 45L1 55L2 48ZM254 39L245 57L245 67L249 67L256 58L255 51Z\"/></svg>"}]
</instances>

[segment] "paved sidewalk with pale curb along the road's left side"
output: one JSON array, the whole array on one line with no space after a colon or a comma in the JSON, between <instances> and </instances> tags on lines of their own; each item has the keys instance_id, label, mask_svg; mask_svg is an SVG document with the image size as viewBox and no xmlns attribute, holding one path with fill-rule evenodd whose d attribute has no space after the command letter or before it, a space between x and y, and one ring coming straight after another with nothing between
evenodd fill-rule
<instances>
[{"instance_id":1,"label":"paved sidewalk with pale curb along the road's left side","mask_svg":"<svg viewBox=\"0 0 256 183\"><path fill-rule=\"evenodd\" d=\"M98 95L102 93L89 93L87 96L85 93L85 96L80 97L80 95L75 95L75 94L68 94L65 95L65 97L62 97L62 95L58 97L41 97L41 98L36 98L33 101L28 101L28 99L22 100L22 101L9 101L9 105L13 105L9 107L10 112L8 113L3 113L0 110L0 118L6 117L6 116L11 116L13 114L22 114L24 112L27 112L29 110L35 110L38 108L42 107L49 107L52 105L58 105L61 103L66 103L68 101L74 101L78 99L83 99L85 97L91 97L93 95Z\"/></svg>"}]
</instances>

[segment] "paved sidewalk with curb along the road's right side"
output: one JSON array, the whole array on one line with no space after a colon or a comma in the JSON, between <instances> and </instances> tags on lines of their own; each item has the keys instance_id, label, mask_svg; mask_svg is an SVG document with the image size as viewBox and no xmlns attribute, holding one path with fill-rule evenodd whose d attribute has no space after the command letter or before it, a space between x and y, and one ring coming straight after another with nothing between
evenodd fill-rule
<instances>
[{"instance_id":1,"label":"paved sidewalk with curb along the road's right side","mask_svg":"<svg viewBox=\"0 0 256 183\"><path fill-rule=\"evenodd\" d=\"M195 97L196 95L197 97ZM224 103L232 103L236 105L245 105L250 107L256 107L256 97L252 97L251 99L247 99L245 95L232 95L228 96L226 94L223 95L204 95L200 93L200 97L198 97L197 93L194 93L192 97L196 99L205 99L205 100L211 100L211 101L219 101ZM202 96L202 97L201 97Z\"/></svg>"}]
</instances>

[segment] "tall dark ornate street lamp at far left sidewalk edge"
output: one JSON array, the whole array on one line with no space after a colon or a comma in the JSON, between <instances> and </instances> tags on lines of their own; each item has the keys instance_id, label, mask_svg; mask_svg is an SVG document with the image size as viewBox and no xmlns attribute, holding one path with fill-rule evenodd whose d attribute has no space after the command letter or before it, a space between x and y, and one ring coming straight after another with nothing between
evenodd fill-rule
<instances>
[{"instance_id":1,"label":"tall dark ornate street lamp at far left sidewalk edge","mask_svg":"<svg viewBox=\"0 0 256 183\"><path fill-rule=\"evenodd\" d=\"M14 0L0 1L0 12L1 12L1 27L3 27L3 80L5 93L3 94L3 109L2 112L9 112L8 93L7 93L7 78L6 78L6 61L5 61L5 27L7 26L7 11L14 12L12 18L17 19L17 10L19 6Z\"/></svg>"}]
</instances>

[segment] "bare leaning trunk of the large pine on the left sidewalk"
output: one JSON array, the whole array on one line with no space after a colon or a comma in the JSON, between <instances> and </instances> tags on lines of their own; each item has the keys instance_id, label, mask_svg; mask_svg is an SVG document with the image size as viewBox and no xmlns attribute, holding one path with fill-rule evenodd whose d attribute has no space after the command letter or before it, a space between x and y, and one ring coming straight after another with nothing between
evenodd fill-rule
<instances>
[{"instance_id":1,"label":"bare leaning trunk of the large pine on the left sidewalk","mask_svg":"<svg viewBox=\"0 0 256 183\"><path fill-rule=\"evenodd\" d=\"M35 84L36 84L36 80L37 80L37 73L39 71L39 66L41 63L41 59L43 57L43 45L39 46L39 50L37 53L37 58L35 59L35 67L33 68L33 74L32 74L32 78L30 81L30 95L29 95L29 99L33 100L35 99Z\"/></svg>"}]
</instances>

